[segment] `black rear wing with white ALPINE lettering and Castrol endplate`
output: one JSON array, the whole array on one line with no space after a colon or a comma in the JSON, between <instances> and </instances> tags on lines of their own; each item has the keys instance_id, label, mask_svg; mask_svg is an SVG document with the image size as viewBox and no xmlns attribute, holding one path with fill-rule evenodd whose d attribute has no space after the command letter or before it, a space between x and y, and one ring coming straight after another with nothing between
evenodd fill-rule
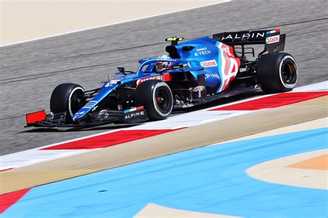
<instances>
[{"instance_id":1,"label":"black rear wing with white ALPINE lettering and Castrol endplate","mask_svg":"<svg viewBox=\"0 0 328 218\"><path fill-rule=\"evenodd\" d=\"M268 51L268 53L284 51L284 42L286 34L280 34L280 30L255 30L217 33L213 39L222 42L228 46L242 46L250 44L264 44L264 51L259 56Z\"/></svg>"}]
</instances>

